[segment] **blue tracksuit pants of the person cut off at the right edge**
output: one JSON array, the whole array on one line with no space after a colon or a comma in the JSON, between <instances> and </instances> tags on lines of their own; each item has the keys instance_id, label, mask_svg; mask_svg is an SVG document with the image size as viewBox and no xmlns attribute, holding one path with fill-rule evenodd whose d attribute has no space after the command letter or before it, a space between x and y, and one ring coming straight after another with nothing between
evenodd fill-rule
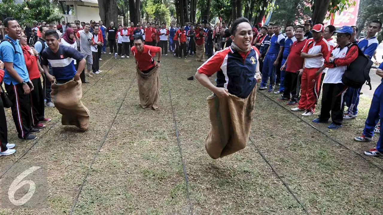
<instances>
[{"instance_id":1,"label":"blue tracksuit pants of the person cut off at the right edge","mask_svg":"<svg viewBox=\"0 0 383 215\"><path fill-rule=\"evenodd\" d=\"M371 101L370 110L363 129L363 134L366 137L373 137L375 125L379 122L380 116L383 116L383 83L381 83L375 90L374 96ZM381 135L383 136L383 135ZM377 145L381 148L381 138L379 138ZM376 147L378 148L378 147ZM380 151L383 151L381 148Z\"/></svg>"}]
</instances>

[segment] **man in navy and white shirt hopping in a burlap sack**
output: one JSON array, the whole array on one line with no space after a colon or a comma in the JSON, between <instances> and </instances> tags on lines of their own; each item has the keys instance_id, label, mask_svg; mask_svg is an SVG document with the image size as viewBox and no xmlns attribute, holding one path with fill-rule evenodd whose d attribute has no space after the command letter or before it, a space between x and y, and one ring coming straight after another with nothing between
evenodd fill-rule
<instances>
[{"instance_id":1,"label":"man in navy and white shirt hopping in a burlap sack","mask_svg":"<svg viewBox=\"0 0 383 215\"><path fill-rule=\"evenodd\" d=\"M86 61L76 49L59 45L59 35L56 31L46 31L45 37L48 47L41 54L42 64L46 77L52 82L52 102L62 114L61 123L88 130L89 111L81 101L80 81L80 74ZM77 71L75 60L79 62ZM49 74L48 64L53 68L53 75Z\"/></svg>"}]
</instances>

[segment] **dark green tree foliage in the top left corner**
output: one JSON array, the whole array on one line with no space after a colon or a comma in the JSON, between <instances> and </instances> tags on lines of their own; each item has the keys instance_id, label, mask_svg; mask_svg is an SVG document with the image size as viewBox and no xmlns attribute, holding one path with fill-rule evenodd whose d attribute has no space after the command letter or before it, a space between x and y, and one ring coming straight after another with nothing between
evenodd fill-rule
<instances>
[{"instance_id":1,"label":"dark green tree foliage in the top left corner","mask_svg":"<svg viewBox=\"0 0 383 215\"><path fill-rule=\"evenodd\" d=\"M46 21L47 23L61 20L62 16L54 14L55 8L49 0L28 0L16 4L13 0L0 3L0 13L13 16L20 24Z\"/></svg>"}]
</instances>

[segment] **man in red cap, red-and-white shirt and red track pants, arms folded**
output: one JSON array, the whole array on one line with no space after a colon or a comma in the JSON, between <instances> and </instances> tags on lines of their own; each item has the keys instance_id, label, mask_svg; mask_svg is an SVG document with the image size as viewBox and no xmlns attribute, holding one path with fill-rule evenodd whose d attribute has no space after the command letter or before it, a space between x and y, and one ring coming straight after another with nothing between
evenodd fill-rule
<instances>
[{"instance_id":1,"label":"man in red cap, red-and-white shirt and red track pants, arms folded","mask_svg":"<svg viewBox=\"0 0 383 215\"><path fill-rule=\"evenodd\" d=\"M311 31L313 38L307 40L301 52L301 57L304 58L303 71L299 74L302 75L301 99L298 107L291 109L291 111L305 111L302 116L314 114L322 75L322 72L319 74L317 72L323 66L324 57L330 51L328 42L322 37L324 26L316 24Z\"/></svg>"}]
</instances>

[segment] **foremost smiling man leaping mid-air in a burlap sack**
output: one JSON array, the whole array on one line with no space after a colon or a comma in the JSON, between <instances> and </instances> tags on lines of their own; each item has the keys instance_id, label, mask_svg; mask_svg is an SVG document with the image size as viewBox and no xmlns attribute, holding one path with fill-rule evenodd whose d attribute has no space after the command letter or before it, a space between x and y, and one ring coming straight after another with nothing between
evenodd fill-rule
<instances>
[{"instance_id":1,"label":"foremost smiling man leaping mid-air in a burlap sack","mask_svg":"<svg viewBox=\"0 0 383 215\"><path fill-rule=\"evenodd\" d=\"M211 129L205 147L213 159L246 147L252 123L257 81L260 81L259 51L249 20L238 18L231 28L232 44L207 60L195 75L213 94L207 98ZM217 86L209 77L217 72Z\"/></svg>"}]
</instances>

